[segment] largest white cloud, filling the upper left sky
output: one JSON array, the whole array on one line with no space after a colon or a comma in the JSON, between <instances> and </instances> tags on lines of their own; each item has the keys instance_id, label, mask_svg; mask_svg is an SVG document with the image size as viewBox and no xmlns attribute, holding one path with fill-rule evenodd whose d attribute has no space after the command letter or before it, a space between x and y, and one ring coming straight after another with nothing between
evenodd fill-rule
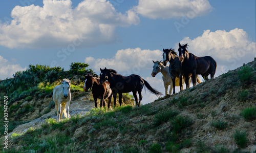
<instances>
[{"instance_id":1,"label":"largest white cloud, filling the upper left sky","mask_svg":"<svg viewBox=\"0 0 256 153\"><path fill-rule=\"evenodd\" d=\"M44 6L16 6L10 24L0 24L0 45L8 48L49 48L67 46L77 38L81 47L113 43L116 26L139 23L131 10L116 12L106 0L84 0L76 8L72 2L44 0Z\"/></svg>"}]
</instances>

